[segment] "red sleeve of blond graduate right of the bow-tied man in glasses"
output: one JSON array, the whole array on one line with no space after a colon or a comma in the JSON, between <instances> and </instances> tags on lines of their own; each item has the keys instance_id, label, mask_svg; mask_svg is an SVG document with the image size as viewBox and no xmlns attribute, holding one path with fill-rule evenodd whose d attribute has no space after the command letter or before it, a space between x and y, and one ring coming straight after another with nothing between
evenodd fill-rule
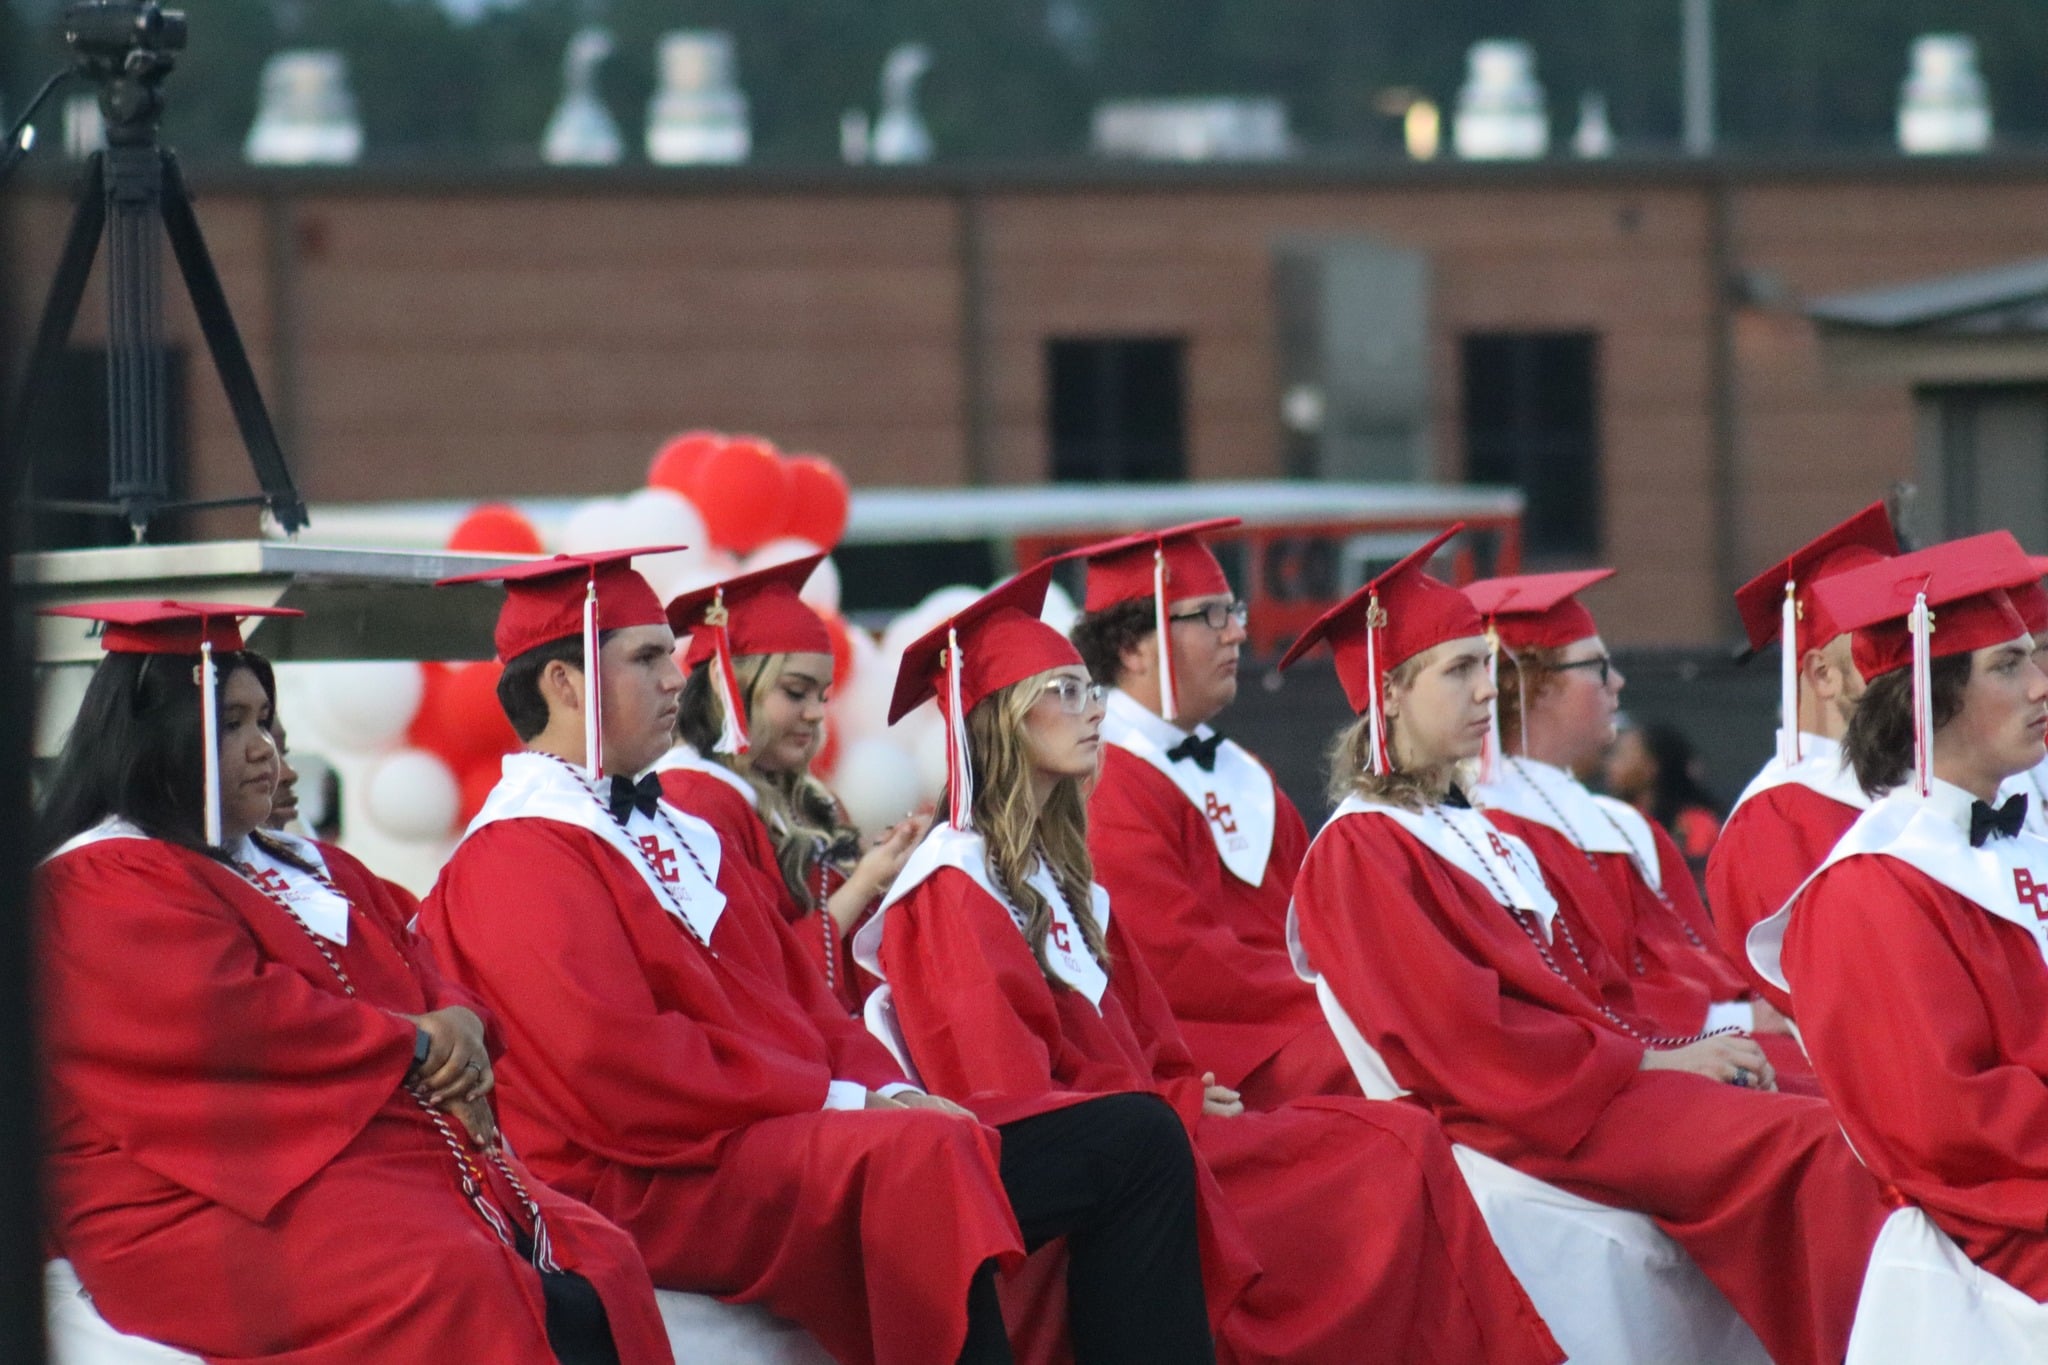
<instances>
[{"instance_id":1,"label":"red sleeve of blond graduate right of the bow-tied man in glasses","mask_svg":"<svg viewBox=\"0 0 2048 1365\"><path fill-rule=\"evenodd\" d=\"M1642 1046L1595 1021L1468 880L1391 821L1348 817L1294 886L1303 941L1403 1087L1565 1154L1634 1081Z\"/></svg>"}]
</instances>

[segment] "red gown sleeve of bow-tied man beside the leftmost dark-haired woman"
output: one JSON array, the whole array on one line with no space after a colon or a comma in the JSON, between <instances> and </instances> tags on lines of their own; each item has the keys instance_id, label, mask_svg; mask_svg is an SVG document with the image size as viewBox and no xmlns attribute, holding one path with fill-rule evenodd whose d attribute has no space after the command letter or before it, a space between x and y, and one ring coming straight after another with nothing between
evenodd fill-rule
<instances>
[{"instance_id":1,"label":"red gown sleeve of bow-tied man beside the leftmost dark-haired woman","mask_svg":"<svg viewBox=\"0 0 2048 1365\"><path fill-rule=\"evenodd\" d=\"M819 1111L831 1068L735 1027L715 1001L723 968L694 943L684 958L694 976L674 988L705 993L707 1009L657 1005L625 911L592 868L592 855L608 853L551 821L489 825L463 843L422 909L465 980L487 999L522 1001L516 1019L506 1013L508 1042L547 1089L528 1103L573 1109L563 1128L582 1146L635 1166L690 1164L705 1134ZM721 919L715 941L725 929Z\"/></svg>"}]
</instances>

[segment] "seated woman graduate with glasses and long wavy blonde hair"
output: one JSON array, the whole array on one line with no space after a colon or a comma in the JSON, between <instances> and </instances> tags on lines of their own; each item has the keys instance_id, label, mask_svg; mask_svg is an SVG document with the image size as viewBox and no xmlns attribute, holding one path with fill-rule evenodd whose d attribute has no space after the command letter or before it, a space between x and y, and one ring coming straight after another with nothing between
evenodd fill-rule
<instances>
[{"instance_id":1,"label":"seated woman graduate with glasses and long wavy blonde hair","mask_svg":"<svg viewBox=\"0 0 2048 1365\"><path fill-rule=\"evenodd\" d=\"M989 1121L1116 1095L1184 1126L1219 1359L1561 1359L1425 1113L1362 1097L1251 1113L1188 1054L1090 876L1104 688L1038 620L1049 579L1040 565L938 624L897 677L893 716L940 700L946 821L854 950L924 1083Z\"/></svg>"}]
</instances>

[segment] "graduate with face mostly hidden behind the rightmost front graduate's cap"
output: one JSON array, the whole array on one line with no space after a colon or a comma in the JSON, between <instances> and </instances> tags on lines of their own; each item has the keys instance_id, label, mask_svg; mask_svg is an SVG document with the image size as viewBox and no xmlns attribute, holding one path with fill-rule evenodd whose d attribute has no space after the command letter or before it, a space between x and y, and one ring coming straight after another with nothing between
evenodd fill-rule
<instances>
[{"instance_id":1,"label":"graduate with face mostly hidden behind the rightmost front graduate's cap","mask_svg":"<svg viewBox=\"0 0 2048 1365\"><path fill-rule=\"evenodd\" d=\"M1884 503L1870 503L1735 591L1749 647L1778 643L1778 753L1720 827L1706 860L1706 902L1722 952L1788 1017L1792 999L1749 962L1749 931L1784 909L1870 806L1841 755L1864 679L1849 632L1829 618L1817 585L1896 553Z\"/></svg>"}]
</instances>

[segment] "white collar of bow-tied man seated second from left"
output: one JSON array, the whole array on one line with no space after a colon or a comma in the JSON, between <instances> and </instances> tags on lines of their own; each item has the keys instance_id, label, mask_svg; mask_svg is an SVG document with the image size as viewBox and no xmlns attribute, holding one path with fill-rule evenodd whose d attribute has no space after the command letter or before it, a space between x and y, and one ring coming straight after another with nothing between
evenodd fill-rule
<instances>
[{"instance_id":1,"label":"white collar of bow-tied man seated second from left","mask_svg":"<svg viewBox=\"0 0 2048 1365\"><path fill-rule=\"evenodd\" d=\"M662 800L659 814L635 810L621 829L582 769L547 753L508 753L504 776L463 839L485 825L520 819L557 821L594 833L639 872L664 911L711 943L711 931L725 913L725 892L717 886L723 847L719 831L705 821ZM670 847L678 837L686 847Z\"/></svg>"}]
</instances>

